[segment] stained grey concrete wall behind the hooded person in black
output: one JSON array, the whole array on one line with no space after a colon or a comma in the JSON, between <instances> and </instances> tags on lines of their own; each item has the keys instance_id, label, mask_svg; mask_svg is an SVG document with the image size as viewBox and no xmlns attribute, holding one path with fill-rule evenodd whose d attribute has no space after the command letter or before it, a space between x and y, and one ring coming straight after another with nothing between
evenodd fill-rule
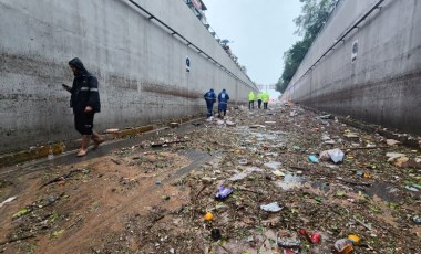
<instances>
[{"instance_id":1,"label":"stained grey concrete wall behind the hooded person in black","mask_svg":"<svg viewBox=\"0 0 421 254\"><path fill-rule=\"evenodd\" d=\"M127 0L0 0L0 151L79 137L61 88L75 56L100 82L99 130L204 115L210 87L232 105L256 91L184 1L136 2L232 74Z\"/></svg>"}]
</instances>

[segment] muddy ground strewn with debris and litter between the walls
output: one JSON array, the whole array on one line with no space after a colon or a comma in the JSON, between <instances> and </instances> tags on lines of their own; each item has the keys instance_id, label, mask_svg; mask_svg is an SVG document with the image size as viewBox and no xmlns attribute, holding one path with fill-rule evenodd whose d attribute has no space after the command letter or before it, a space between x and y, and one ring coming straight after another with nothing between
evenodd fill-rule
<instances>
[{"instance_id":1,"label":"muddy ground strewn with debris and litter between the walls","mask_svg":"<svg viewBox=\"0 0 421 254\"><path fill-rule=\"evenodd\" d=\"M420 150L295 105L193 124L0 169L0 253L421 253Z\"/></svg>"}]
</instances>

